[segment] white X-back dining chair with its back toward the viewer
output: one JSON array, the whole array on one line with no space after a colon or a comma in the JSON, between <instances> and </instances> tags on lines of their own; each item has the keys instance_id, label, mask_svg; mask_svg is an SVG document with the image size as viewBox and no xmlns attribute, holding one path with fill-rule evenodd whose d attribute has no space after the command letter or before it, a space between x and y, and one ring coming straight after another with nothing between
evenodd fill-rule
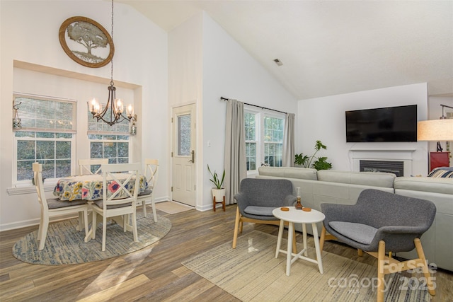
<instances>
[{"instance_id":1,"label":"white X-back dining chair with its back toward the viewer","mask_svg":"<svg viewBox=\"0 0 453 302\"><path fill-rule=\"evenodd\" d=\"M137 213L136 203L139 191L140 163L118 163L101 165L103 175L103 199L93 201L93 223L91 224L92 238L96 238L97 214L103 216L102 221L102 251L105 251L105 238L107 231L107 219L122 216L124 231L131 231L134 242L138 242L137 236ZM122 172L122 173L121 173ZM120 173L120 174L119 174ZM121 177L128 173L127 177ZM130 181L134 184L130 192ZM116 185L109 187L109 184ZM108 194L108 192L110 194ZM129 224L129 215L132 215L132 226Z\"/></svg>"}]
</instances>

